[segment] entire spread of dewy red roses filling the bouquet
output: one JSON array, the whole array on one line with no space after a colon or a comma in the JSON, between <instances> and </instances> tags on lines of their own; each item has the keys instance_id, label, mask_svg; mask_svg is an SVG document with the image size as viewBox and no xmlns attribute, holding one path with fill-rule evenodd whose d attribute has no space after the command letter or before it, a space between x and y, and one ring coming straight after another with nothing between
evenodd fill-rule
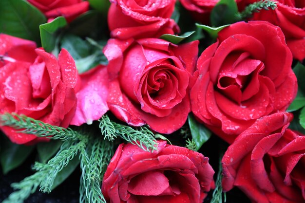
<instances>
[{"instance_id":1,"label":"entire spread of dewy red roses filling the bouquet","mask_svg":"<svg viewBox=\"0 0 305 203\"><path fill-rule=\"evenodd\" d=\"M218 2L180 1L203 22ZM68 21L89 6L81 0L29 2L49 19ZM287 129L292 115L284 111L298 90L293 57L305 58L305 3L277 2L278 9L262 11L254 21L224 28L198 58L198 40L176 45L157 38L180 30L171 19L175 0L113 0L113 38L103 49L109 64L84 74L65 49L56 57L32 41L1 34L0 113L68 127L92 124L110 110L130 126L147 124L171 134L192 112L231 144L222 160L226 191L235 185L253 202L304 203L305 139ZM1 129L18 144L40 140ZM203 202L214 187L209 159L157 144L152 153L131 144L118 147L103 179L107 201Z\"/></svg>"}]
</instances>

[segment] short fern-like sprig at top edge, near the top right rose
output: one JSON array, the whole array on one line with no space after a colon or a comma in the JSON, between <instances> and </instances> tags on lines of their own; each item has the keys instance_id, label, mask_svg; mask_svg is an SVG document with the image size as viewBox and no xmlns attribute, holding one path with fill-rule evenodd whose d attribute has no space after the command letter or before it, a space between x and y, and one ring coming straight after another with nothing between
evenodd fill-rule
<instances>
[{"instance_id":1,"label":"short fern-like sprig at top edge, near the top right rose","mask_svg":"<svg viewBox=\"0 0 305 203\"><path fill-rule=\"evenodd\" d=\"M269 10L269 9L276 9L277 3L273 0L260 0L254 3L249 4L244 11L241 13L238 13L236 18L238 21L240 20L246 20L248 18L251 18L253 13L260 12L262 9Z\"/></svg>"}]
</instances>

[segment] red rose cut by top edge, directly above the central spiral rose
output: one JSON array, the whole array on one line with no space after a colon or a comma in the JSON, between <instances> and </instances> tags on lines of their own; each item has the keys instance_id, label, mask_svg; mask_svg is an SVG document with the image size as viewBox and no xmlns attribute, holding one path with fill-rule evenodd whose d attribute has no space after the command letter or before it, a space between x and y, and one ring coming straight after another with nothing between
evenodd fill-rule
<instances>
[{"instance_id":1,"label":"red rose cut by top edge, directly above the central spiral rose","mask_svg":"<svg viewBox=\"0 0 305 203\"><path fill-rule=\"evenodd\" d=\"M108 25L119 39L160 37L179 32L171 19L175 0L111 0Z\"/></svg>"}]
</instances>

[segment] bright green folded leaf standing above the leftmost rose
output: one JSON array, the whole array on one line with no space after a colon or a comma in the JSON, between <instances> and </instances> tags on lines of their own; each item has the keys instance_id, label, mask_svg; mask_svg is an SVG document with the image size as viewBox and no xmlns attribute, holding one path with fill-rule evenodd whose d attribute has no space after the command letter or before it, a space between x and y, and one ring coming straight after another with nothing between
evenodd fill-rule
<instances>
[{"instance_id":1,"label":"bright green folded leaf standing above the leftmost rose","mask_svg":"<svg viewBox=\"0 0 305 203\"><path fill-rule=\"evenodd\" d=\"M56 32L67 25L64 17L60 16L51 22L39 25L41 45L46 52L52 52L56 45Z\"/></svg>"}]
</instances>

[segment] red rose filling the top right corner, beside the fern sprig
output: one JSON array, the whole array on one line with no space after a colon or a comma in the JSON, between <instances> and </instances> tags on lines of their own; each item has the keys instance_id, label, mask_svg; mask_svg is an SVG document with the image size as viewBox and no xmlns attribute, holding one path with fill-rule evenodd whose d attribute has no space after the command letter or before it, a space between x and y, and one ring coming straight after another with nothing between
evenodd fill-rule
<instances>
[{"instance_id":1,"label":"red rose filling the top right corner, beside the fern sprig","mask_svg":"<svg viewBox=\"0 0 305 203\"><path fill-rule=\"evenodd\" d=\"M261 10L253 16L254 20L265 20L279 26L294 58L305 58L305 1L276 0L277 9Z\"/></svg>"}]
</instances>

